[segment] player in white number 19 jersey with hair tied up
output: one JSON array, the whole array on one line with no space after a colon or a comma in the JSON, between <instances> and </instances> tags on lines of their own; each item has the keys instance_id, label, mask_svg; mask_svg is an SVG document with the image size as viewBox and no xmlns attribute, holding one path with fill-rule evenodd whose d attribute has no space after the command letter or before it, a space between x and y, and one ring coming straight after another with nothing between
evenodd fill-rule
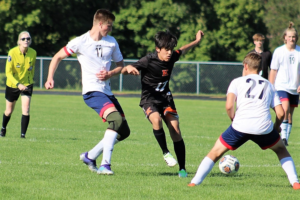
<instances>
[{"instance_id":1,"label":"player in white number 19 jersey with hair tied up","mask_svg":"<svg viewBox=\"0 0 300 200\"><path fill-rule=\"evenodd\" d=\"M275 49L271 62L269 81L274 84L285 117L281 124L281 138L285 146L288 146L288 139L292 129L292 117L295 107L298 107L300 93L300 46L298 32L289 27L283 33L284 45Z\"/></svg>"}]
</instances>

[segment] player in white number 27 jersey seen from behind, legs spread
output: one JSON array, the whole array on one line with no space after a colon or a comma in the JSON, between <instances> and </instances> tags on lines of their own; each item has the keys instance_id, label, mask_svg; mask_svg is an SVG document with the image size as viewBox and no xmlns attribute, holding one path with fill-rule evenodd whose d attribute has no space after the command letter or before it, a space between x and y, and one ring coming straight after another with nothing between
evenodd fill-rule
<instances>
[{"instance_id":1,"label":"player in white number 27 jersey seen from behind, legs spread","mask_svg":"<svg viewBox=\"0 0 300 200\"><path fill-rule=\"evenodd\" d=\"M295 190L298 190L300 184L294 161L278 133L284 118L284 110L274 86L259 76L262 56L255 52L249 53L243 65L245 76L234 79L227 91L226 111L232 124L221 134L214 147L202 160L188 186L201 184L224 153L252 140L261 149L271 149L276 153L289 182ZM236 112L234 112L235 100ZM274 124L271 121L270 107L276 113Z\"/></svg>"}]
</instances>

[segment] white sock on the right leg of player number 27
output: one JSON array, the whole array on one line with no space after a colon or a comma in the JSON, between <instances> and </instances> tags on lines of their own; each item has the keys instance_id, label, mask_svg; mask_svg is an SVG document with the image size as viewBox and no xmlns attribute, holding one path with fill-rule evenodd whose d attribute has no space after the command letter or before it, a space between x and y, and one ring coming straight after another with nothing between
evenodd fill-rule
<instances>
[{"instance_id":1,"label":"white sock on the right leg of player number 27","mask_svg":"<svg viewBox=\"0 0 300 200\"><path fill-rule=\"evenodd\" d=\"M299 183L298 175L296 172L294 160L292 157L285 157L280 160L280 164L285 171L290 184Z\"/></svg>"}]
</instances>

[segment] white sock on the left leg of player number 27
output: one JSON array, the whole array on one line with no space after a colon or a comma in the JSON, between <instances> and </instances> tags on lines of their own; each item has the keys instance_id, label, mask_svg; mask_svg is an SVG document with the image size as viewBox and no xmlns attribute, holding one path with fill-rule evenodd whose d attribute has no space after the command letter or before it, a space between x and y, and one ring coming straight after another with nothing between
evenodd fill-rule
<instances>
[{"instance_id":1,"label":"white sock on the left leg of player number 27","mask_svg":"<svg viewBox=\"0 0 300 200\"><path fill-rule=\"evenodd\" d=\"M205 157L202 160L202 162L200 163L200 165L198 167L198 170L196 172L196 175L190 181L190 183L194 183L196 185L201 184L202 181L204 180L204 178L211 171L211 169L212 169L213 166L214 166L214 162L209 157Z\"/></svg>"}]
</instances>

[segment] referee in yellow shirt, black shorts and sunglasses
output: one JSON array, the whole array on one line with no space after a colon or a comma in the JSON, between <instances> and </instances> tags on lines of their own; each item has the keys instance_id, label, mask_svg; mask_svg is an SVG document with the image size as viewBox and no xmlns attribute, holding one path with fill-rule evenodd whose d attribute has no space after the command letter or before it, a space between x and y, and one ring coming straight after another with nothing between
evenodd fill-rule
<instances>
[{"instance_id":1,"label":"referee in yellow shirt, black shorts and sunglasses","mask_svg":"<svg viewBox=\"0 0 300 200\"><path fill-rule=\"evenodd\" d=\"M29 47L32 43L29 32L22 31L18 37L18 46L10 49L6 61L6 109L3 114L0 137L5 137L6 126L21 94L22 119L21 138L29 125L29 108L32 96L33 76L35 72L36 51Z\"/></svg>"}]
</instances>

